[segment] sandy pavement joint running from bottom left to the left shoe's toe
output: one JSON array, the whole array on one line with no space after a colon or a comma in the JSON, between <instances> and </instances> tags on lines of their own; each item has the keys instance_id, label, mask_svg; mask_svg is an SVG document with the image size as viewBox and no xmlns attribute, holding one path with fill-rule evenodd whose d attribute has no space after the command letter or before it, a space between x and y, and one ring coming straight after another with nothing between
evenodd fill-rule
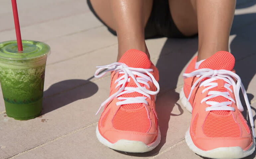
<instances>
[{"instance_id":1,"label":"sandy pavement joint running from bottom left to the left shoe's toe","mask_svg":"<svg viewBox=\"0 0 256 159\"><path fill-rule=\"evenodd\" d=\"M28 149L28 150L26 150L26 151L20 152L20 153L14 155L14 156L12 156L12 157L10 157L10 158L8 158L8 159L12 159L12 158L15 158L15 157L17 157L17 156L23 155L23 154L25 154L25 153L27 153L27 152L33 151L33 150L35 150L35 149L38 149L38 148L40 148L40 147L43 147L43 146L48 145L48 144L50 144L50 143L53 143L53 142L55 142L55 141L57 141L57 140L59 140L59 139L62 139L62 138L64 138L64 137L66 137L66 136L69 136L69 135L71 135L71 134L73 134L73 133L76 133L76 132L85 130L85 129L87 129L87 128L96 126L97 124L98 124L98 122L95 122L95 123L92 123L92 124L87 125L87 126L85 126L85 127L79 128L79 129L77 129L77 130L74 130L74 131L72 131L72 132L69 132L69 133L67 133L67 134L64 134L64 135L62 135L62 136L60 136L60 137L57 137L57 138L52 139L52 140L50 140L50 141L47 141L47 142L45 142L45 143L43 143L43 144L40 144L40 145L38 145L38 146L36 146L36 147L33 147L33 148Z\"/></svg>"}]
</instances>

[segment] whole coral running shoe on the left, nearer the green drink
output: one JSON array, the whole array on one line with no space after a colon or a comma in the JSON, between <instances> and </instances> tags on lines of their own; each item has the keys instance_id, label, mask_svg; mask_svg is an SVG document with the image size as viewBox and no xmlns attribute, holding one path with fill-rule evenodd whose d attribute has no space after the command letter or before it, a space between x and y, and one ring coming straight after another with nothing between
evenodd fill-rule
<instances>
[{"instance_id":1,"label":"whole coral running shoe on the left, nearer the green drink","mask_svg":"<svg viewBox=\"0 0 256 159\"><path fill-rule=\"evenodd\" d=\"M99 108L104 107L96 128L98 140L125 152L154 149L161 139L155 109L157 68L144 52L135 49L128 50L119 62L97 68L97 78L111 72L110 96Z\"/></svg>"}]
</instances>

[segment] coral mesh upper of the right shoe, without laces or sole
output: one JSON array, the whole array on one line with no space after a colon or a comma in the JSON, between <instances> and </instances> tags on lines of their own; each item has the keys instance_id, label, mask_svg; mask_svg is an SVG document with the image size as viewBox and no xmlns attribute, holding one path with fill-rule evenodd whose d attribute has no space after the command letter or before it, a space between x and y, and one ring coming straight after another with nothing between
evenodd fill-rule
<instances>
[{"instance_id":1,"label":"coral mesh upper of the right shoe, without laces or sole","mask_svg":"<svg viewBox=\"0 0 256 159\"><path fill-rule=\"evenodd\" d=\"M192 74L192 72L196 71L196 58L197 57L195 57L189 64L189 68L187 68L185 72L186 74ZM204 60L199 65L198 69L216 70L216 73L218 73L218 70L234 72L234 65L235 59L232 54L226 51L219 51L212 55L210 58ZM211 74L211 76L212 78L215 78L214 73ZM199 77L193 76L184 80L184 93L187 98L189 98L192 85L196 82L197 79L199 79ZM191 98L189 98L189 102L193 106L192 121L190 127L193 142L197 147L200 147L203 150L209 150L221 146L226 147L227 145L240 146L245 149L247 146L249 146L249 144L252 143L252 134L246 121L236 106L237 103L233 102L236 101L236 99L232 85L228 84L223 79L214 79L213 81L210 81L211 83L206 82L206 84L203 85L203 82L209 79L211 80L211 78L202 79L201 82L196 85L196 88L192 90ZM217 86L212 84L212 82L217 83ZM230 90L226 88L227 85ZM207 89L207 87L211 86L212 88ZM207 90L205 91L205 89ZM212 97L213 95L209 92L213 92L213 94L215 93L219 95ZM222 96L223 94L224 96ZM227 99L227 96L230 97L230 100ZM203 101L203 99L207 100ZM225 107L227 110L222 108L220 110L206 111L206 109L211 106L206 103L213 103L214 105L217 103L225 102L229 103ZM231 108L228 109L229 107L232 107L232 111ZM248 141L244 141L243 144L242 142L238 142L242 139L247 139ZM210 144L212 142L215 142L214 145ZM205 143L208 143L208 145L202 145Z\"/></svg>"}]
</instances>

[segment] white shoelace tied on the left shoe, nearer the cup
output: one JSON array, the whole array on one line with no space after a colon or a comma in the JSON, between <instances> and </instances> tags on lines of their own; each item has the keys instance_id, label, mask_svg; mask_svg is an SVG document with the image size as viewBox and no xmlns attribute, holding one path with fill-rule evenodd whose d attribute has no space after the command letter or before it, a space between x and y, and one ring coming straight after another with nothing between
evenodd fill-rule
<instances>
[{"instance_id":1,"label":"white shoelace tied on the left shoe, nearer the cup","mask_svg":"<svg viewBox=\"0 0 256 159\"><path fill-rule=\"evenodd\" d=\"M116 85L116 88L119 87L121 85L121 87L119 88L119 90L112 94L109 98L107 98L101 105L99 110L97 111L96 115L99 113L100 109L102 107L104 107L108 102L112 101L114 98L118 97L118 100L122 100L116 103L117 106L121 106L124 104L132 104L132 103L145 103L148 104L146 98L150 98L150 94L151 95L156 95L159 92L159 84L156 81L156 79L154 78L154 76L150 73L153 72L153 69L142 69L142 68L132 68L132 67L128 67L126 64L124 63L120 63L120 62L115 62L112 63L110 65L106 65L106 66L98 66L97 68L99 68L98 70L96 70L94 77L96 78L101 78L104 75L107 74L107 72L111 72L111 71L115 71L115 72L119 72L119 74L124 74L123 76L119 77L118 79L115 80L114 83L118 84ZM101 73L99 75L99 72L101 70L105 70L103 73ZM145 75L147 74L147 75ZM134 75L137 75L138 77L135 78ZM127 82L130 81L130 78L132 78L135 82L135 84L138 87L126 87L125 84ZM142 87L139 83L145 84L146 86L150 87L150 85L148 84L148 81L151 81L154 83L154 85L157 87L156 91L151 91L148 90L145 86ZM126 93L132 93L132 92L138 92L141 93L144 96L139 96L139 97L119 97L123 94ZM146 109L147 110L147 109ZM147 110L148 112L148 110ZM149 117L149 112L148 112L148 117Z\"/></svg>"}]
</instances>

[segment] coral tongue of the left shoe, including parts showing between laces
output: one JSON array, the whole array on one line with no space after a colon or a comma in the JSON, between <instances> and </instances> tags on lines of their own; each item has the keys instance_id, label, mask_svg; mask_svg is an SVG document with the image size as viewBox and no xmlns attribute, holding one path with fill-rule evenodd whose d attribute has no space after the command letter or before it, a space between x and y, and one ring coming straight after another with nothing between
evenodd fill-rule
<instances>
[{"instance_id":1,"label":"coral tongue of the left shoe, including parts showing between laces","mask_svg":"<svg viewBox=\"0 0 256 159\"><path fill-rule=\"evenodd\" d=\"M126 64L129 67L133 68L143 68L143 69L149 69L151 67L151 61L149 60L148 56L139 50L131 49L125 52L125 54L121 57L119 62ZM137 76L135 76L136 78ZM144 84L140 83L141 86L144 86ZM127 83L127 87L138 87L133 79L130 79L130 82ZM120 97L138 97L138 96L144 96L141 93L138 92L132 92L132 93L126 93L121 95ZM122 105L122 108L125 110L134 110L141 108L143 106L142 103L134 103L134 104L124 104Z\"/></svg>"}]
</instances>

